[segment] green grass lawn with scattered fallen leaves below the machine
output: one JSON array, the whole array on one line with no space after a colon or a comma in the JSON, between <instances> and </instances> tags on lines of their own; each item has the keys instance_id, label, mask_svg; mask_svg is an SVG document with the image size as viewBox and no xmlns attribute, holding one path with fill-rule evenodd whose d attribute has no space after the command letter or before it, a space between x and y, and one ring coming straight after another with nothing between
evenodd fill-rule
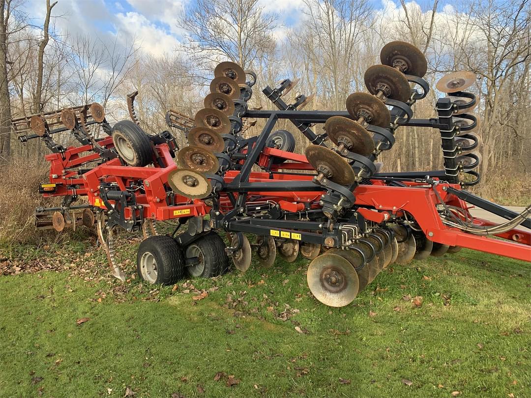
<instances>
[{"instance_id":1,"label":"green grass lawn with scattered fallen leaves below the machine","mask_svg":"<svg viewBox=\"0 0 531 398\"><path fill-rule=\"evenodd\" d=\"M393 265L335 309L309 295L304 259L192 281L211 290L194 301L185 281L133 279L138 239L118 252L125 284L91 244L4 248L62 271L0 276L0 395L531 396L529 264L463 250Z\"/></svg>"}]
</instances>

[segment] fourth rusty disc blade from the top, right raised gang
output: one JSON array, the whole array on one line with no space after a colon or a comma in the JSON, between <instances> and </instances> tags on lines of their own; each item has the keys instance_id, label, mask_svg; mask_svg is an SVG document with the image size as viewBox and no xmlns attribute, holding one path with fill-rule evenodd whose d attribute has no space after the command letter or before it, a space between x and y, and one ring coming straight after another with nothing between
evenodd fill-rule
<instances>
[{"instance_id":1,"label":"fourth rusty disc blade from the top, right raised gang","mask_svg":"<svg viewBox=\"0 0 531 398\"><path fill-rule=\"evenodd\" d=\"M345 144L349 151L369 156L374 151L374 141L369 132L356 120L332 116L324 124L330 141L336 145Z\"/></svg>"}]
</instances>

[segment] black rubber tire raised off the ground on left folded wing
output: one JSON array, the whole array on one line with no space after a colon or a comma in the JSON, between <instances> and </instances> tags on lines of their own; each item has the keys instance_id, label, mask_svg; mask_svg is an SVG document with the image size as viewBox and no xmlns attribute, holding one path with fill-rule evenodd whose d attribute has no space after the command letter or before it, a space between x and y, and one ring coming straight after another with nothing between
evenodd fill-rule
<instances>
[{"instance_id":1,"label":"black rubber tire raised off the ground on left folded wing","mask_svg":"<svg viewBox=\"0 0 531 398\"><path fill-rule=\"evenodd\" d=\"M153 161L153 147L149 140L149 135L131 120L121 120L113 126L114 148L129 166L144 167ZM128 157L125 152L119 149L117 140L123 140L129 144L131 155ZM123 142L122 141L122 142Z\"/></svg>"}]
</instances>

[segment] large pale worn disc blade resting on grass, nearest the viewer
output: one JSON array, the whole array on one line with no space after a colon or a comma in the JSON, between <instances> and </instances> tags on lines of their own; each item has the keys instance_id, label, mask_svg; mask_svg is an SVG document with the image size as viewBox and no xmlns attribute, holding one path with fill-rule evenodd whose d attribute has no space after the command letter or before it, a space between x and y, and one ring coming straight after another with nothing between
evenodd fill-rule
<instances>
[{"instance_id":1,"label":"large pale worn disc blade resting on grass, nearest the viewer","mask_svg":"<svg viewBox=\"0 0 531 398\"><path fill-rule=\"evenodd\" d=\"M350 262L337 254L316 257L308 267L306 281L313 296L324 305L344 307L359 290L358 274Z\"/></svg>"}]
</instances>

